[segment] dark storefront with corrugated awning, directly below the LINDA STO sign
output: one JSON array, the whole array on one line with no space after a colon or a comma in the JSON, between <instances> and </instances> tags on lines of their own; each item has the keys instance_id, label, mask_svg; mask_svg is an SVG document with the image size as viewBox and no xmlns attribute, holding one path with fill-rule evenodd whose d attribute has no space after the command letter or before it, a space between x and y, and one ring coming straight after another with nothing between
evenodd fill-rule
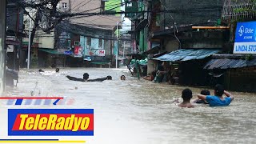
<instances>
[{"instance_id":1,"label":"dark storefront with corrugated awning, directly below the LINDA STO sign","mask_svg":"<svg viewBox=\"0 0 256 144\"><path fill-rule=\"evenodd\" d=\"M211 74L215 84L223 83L228 90L256 90L256 57L248 59L243 54L216 54L204 69Z\"/></svg>"}]
</instances>

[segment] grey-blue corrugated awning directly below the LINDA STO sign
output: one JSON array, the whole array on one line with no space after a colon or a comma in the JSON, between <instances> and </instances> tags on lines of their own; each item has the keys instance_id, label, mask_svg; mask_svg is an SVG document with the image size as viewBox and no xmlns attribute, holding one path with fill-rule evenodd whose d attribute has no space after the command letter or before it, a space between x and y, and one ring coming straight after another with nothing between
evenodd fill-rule
<instances>
[{"instance_id":1,"label":"grey-blue corrugated awning directly below the LINDA STO sign","mask_svg":"<svg viewBox=\"0 0 256 144\"><path fill-rule=\"evenodd\" d=\"M210 60L206 63L204 69L214 70L214 69L235 69L242 68L246 66L256 66L256 59L247 61L244 59L234 59L234 58L216 58Z\"/></svg>"}]
</instances>

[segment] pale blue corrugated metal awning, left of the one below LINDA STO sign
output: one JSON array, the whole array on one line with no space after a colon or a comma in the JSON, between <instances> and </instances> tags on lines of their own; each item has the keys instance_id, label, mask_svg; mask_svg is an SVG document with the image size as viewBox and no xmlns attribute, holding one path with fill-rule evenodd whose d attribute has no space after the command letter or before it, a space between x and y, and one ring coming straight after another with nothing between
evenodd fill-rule
<instances>
[{"instance_id":1,"label":"pale blue corrugated metal awning, left of the one below LINDA STO sign","mask_svg":"<svg viewBox=\"0 0 256 144\"><path fill-rule=\"evenodd\" d=\"M154 58L158 61L189 61L193 59L202 59L209 57L212 54L217 54L218 49L181 49L170 52L169 54L162 55L158 58Z\"/></svg>"}]
</instances>

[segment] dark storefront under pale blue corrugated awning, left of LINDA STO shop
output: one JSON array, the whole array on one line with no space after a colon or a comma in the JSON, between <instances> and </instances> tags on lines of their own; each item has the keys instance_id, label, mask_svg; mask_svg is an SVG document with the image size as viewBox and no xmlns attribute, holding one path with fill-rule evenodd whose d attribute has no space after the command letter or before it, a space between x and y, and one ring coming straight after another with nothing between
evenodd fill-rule
<instances>
[{"instance_id":1,"label":"dark storefront under pale blue corrugated awning, left of LINDA STO shop","mask_svg":"<svg viewBox=\"0 0 256 144\"><path fill-rule=\"evenodd\" d=\"M203 66L211 55L220 52L219 49L181 49L164 54L154 60L170 62L170 79L186 86L206 86L209 82L207 70Z\"/></svg>"}]
</instances>

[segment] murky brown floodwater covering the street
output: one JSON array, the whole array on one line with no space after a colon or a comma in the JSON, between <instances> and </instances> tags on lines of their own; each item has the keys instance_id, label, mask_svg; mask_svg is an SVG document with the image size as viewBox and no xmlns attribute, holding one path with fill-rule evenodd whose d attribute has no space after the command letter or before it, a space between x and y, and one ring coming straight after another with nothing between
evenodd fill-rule
<instances>
[{"instance_id":1,"label":"murky brown floodwater covering the street","mask_svg":"<svg viewBox=\"0 0 256 144\"><path fill-rule=\"evenodd\" d=\"M22 106L25 108L90 108L94 109L94 137L79 137L86 143L169 144L169 143L255 143L256 95L231 92L234 102L226 107L197 105L184 109L172 104L185 87L158 84L130 77L126 69L80 68L24 69L19 83L6 96L60 96L74 98L70 106ZM82 78L111 75L112 81L73 82L69 74ZM120 76L126 75L126 81ZM36 86L38 82L38 86ZM77 87L77 89L75 88ZM191 88L195 95L202 89ZM214 93L210 90L211 94ZM6 106L1 102L2 107ZM20 108L9 106L8 108ZM53 137L44 137L53 138ZM56 137L57 138L57 137Z\"/></svg>"}]
</instances>

